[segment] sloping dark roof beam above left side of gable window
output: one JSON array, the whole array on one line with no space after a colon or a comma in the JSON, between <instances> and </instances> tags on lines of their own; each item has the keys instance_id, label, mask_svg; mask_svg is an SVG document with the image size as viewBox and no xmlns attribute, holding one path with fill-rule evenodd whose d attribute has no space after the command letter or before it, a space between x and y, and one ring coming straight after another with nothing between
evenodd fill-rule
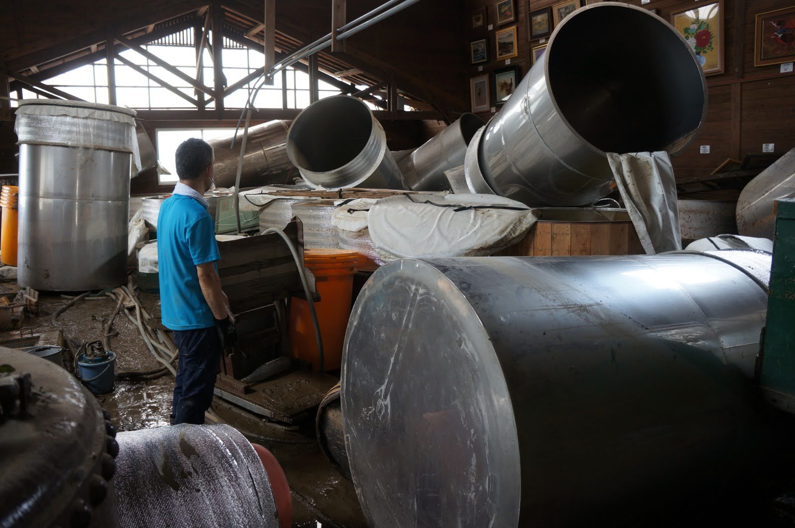
<instances>
[{"instance_id":1,"label":"sloping dark roof beam above left side of gable window","mask_svg":"<svg viewBox=\"0 0 795 528\"><path fill-rule=\"evenodd\" d=\"M204 3L203 0L177 0L175 2L162 2L161 6L158 6L157 9L157 17L159 18L157 21L152 20L152 14L149 12L149 10L141 10L141 14L137 17L120 18L118 20L109 21L107 25L113 25L118 33L126 34L135 31L136 29L142 29L146 25L152 24L153 22L157 24L161 21L166 21L182 14L190 13L193 10L196 10L196 8L202 3ZM30 68L31 66L37 66L48 60L59 59L60 57L76 52L77 50L90 48L92 44L103 42L105 41L106 37L105 27L107 27L107 25L103 25L102 29L97 29L96 31L86 33L80 37L75 37L68 41L60 42L57 45L41 49L37 52L28 53L25 56L9 60L8 64L6 64L8 71L21 72L22 70Z\"/></svg>"}]
</instances>

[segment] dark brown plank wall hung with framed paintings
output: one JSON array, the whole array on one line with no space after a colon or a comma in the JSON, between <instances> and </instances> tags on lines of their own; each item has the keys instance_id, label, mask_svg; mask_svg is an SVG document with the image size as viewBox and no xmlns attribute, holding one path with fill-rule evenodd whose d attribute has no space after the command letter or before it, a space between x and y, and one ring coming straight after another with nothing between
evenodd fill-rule
<instances>
[{"instance_id":1,"label":"dark brown plank wall hung with framed paintings","mask_svg":"<svg viewBox=\"0 0 795 528\"><path fill-rule=\"evenodd\" d=\"M519 56L511 64L519 64L522 75L528 71L532 59L531 47L537 42L528 41L527 14L531 10L552 6L560 0L514 0L517 9ZM589 2L592 3L592 2ZM641 0L630 0L641 6ZM704 4L706 2L702 2ZM471 12L487 6L488 23L495 21L494 2L467 0L467 42L482 38L487 33L490 41L490 58L494 56L494 30L472 32ZM673 11L696 6L692 0L652 0L643 5L656 9L665 20ZM673 159L677 178L711 173L729 157L742 159L747 153L762 152L763 143L775 143L776 151L785 153L795 147L795 76L781 74L780 67L754 67L754 32L756 14L793 6L792 0L724 0L724 73L708 76L709 108L699 138L680 156ZM500 27L507 27L502 25ZM499 29L494 27L494 29ZM467 62L468 64L468 62ZM484 72L503 68L504 61L491 60ZM476 66L469 66L469 76L477 76ZM488 117L488 115L484 115ZM709 145L709 154L699 153L699 146Z\"/></svg>"}]
</instances>

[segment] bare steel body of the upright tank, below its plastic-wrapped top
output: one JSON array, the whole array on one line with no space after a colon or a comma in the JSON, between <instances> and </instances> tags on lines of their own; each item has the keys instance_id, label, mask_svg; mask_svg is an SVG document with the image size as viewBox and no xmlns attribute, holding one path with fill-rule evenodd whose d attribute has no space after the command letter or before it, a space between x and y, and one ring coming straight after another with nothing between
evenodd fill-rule
<instances>
[{"instance_id":1,"label":"bare steel body of the upright tank, below its plastic-wrapped top","mask_svg":"<svg viewBox=\"0 0 795 528\"><path fill-rule=\"evenodd\" d=\"M77 291L126 282L131 157L19 146L19 285Z\"/></svg>"}]
</instances>

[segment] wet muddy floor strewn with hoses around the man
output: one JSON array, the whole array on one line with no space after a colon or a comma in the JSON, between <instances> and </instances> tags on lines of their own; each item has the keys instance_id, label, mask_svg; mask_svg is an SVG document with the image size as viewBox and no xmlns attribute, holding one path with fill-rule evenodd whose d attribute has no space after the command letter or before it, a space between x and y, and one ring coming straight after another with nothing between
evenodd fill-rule
<instances>
[{"instance_id":1,"label":"wet muddy floor strewn with hoses around the man","mask_svg":"<svg viewBox=\"0 0 795 528\"><path fill-rule=\"evenodd\" d=\"M0 282L0 294L13 297L15 291L15 284ZM138 298L152 316L160 316L157 295L139 293ZM33 332L60 329L73 350L87 341L101 340L104 324L114 312L116 301L110 297L80 301L58 316L53 324L52 314L66 303L68 299L58 294L41 293L39 316L26 318L22 326ZM126 316L115 317L111 333L117 373L160 366L142 341L138 328ZM116 379L114 390L97 398L120 431L160 427L169 425L173 388L171 375L149 380ZM292 491L293 526L366 526L353 484L320 452L313 417L298 430L285 431L269 425L261 417L219 402L217 398L212 409L224 422L241 430L250 441L264 445L277 457Z\"/></svg>"}]
</instances>

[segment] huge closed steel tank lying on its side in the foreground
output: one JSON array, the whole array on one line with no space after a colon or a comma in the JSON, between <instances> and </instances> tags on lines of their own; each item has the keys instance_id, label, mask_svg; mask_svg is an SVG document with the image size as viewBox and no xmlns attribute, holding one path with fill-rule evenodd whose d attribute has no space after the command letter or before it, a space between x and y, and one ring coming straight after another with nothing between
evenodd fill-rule
<instances>
[{"instance_id":1,"label":"huge closed steel tank lying on its side in the foreground","mask_svg":"<svg viewBox=\"0 0 795 528\"><path fill-rule=\"evenodd\" d=\"M637 526L747 499L791 468L754 382L769 270L751 250L382 266L343 353L370 526Z\"/></svg>"}]
</instances>

